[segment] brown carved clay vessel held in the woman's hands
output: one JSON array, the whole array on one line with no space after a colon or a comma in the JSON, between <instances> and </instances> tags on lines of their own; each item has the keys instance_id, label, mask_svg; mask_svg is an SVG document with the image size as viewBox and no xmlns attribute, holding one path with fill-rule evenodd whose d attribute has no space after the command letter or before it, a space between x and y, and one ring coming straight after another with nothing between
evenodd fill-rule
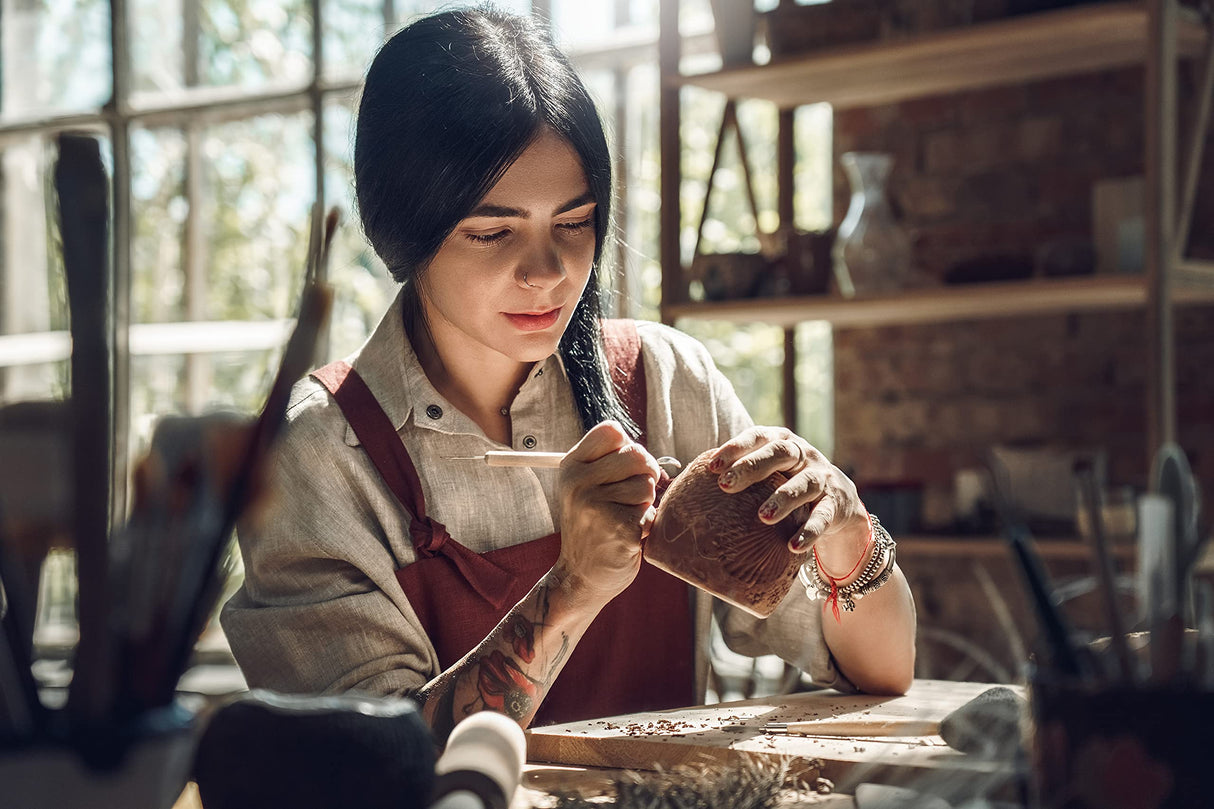
<instances>
[{"instance_id":1,"label":"brown carved clay vessel held in the woman's hands","mask_svg":"<svg viewBox=\"0 0 1214 809\"><path fill-rule=\"evenodd\" d=\"M775 473L742 492L727 493L709 471L708 451L666 490L645 543L645 559L760 618L771 615L796 578L804 554L788 549L798 524L759 520L759 507L785 480Z\"/></svg>"}]
</instances>

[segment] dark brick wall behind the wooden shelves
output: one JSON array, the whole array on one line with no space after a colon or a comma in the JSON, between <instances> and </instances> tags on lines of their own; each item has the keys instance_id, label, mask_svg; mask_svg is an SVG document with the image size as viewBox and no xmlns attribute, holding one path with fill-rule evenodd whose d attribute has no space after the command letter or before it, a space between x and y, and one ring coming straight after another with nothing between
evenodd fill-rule
<instances>
[{"instance_id":1,"label":"dark brick wall behind the wooden shelves","mask_svg":"<svg viewBox=\"0 0 1214 809\"><path fill-rule=\"evenodd\" d=\"M834 148L895 155L890 197L918 266L943 278L983 255L1087 243L1093 182L1142 171L1142 121L1139 68L840 111ZM1198 242L1214 221L1207 152ZM849 193L839 170L835 221ZM1176 322L1180 439L1214 492L1214 309ZM836 462L861 483L923 482L931 524L951 517L954 471L998 442L1105 446L1113 482L1142 486L1145 335L1141 311L840 329Z\"/></svg>"}]
</instances>

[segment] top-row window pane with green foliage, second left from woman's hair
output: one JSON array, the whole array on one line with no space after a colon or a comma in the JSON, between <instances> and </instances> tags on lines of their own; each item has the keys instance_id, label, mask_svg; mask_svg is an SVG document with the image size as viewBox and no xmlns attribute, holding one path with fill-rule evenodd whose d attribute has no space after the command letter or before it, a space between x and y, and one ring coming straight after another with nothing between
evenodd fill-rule
<instances>
[{"instance_id":1,"label":"top-row window pane with green foliage, second left from woman's hair","mask_svg":"<svg viewBox=\"0 0 1214 809\"><path fill-rule=\"evenodd\" d=\"M254 87L306 81L312 15L306 0L199 0L202 84Z\"/></svg>"}]
</instances>

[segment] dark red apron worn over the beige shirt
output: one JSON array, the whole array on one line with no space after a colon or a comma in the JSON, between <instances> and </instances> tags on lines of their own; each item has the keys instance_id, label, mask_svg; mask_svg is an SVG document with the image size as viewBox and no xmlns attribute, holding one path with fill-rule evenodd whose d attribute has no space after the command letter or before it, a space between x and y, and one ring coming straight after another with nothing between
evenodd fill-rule
<instances>
[{"instance_id":1,"label":"dark red apron worn over the beige shirt","mask_svg":"<svg viewBox=\"0 0 1214 809\"><path fill-rule=\"evenodd\" d=\"M646 384L632 321L605 321L613 383L645 442ZM396 571L447 669L493 630L556 562L561 534L477 554L426 516L416 469L358 373L334 362L312 374L333 394L371 463L410 516L416 561ZM652 565L590 624L540 705L533 725L674 708L694 702L693 599Z\"/></svg>"}]
</instances>

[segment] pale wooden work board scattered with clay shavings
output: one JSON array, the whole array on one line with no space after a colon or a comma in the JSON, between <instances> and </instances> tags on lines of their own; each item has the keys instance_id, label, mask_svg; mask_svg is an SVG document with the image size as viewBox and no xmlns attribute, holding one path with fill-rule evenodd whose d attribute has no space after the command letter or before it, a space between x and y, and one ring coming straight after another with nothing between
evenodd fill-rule
<instances>
[{"instance_id":1,"label":"pale wooden work board scattered with clay shavings","mask_svg":"<svg viewBox=\"0 0 1214 809\"><path fill-rule=\"evenodd\" d=\"M878 725L891 719L941 720L993 688L986 683L915 680L901 697L813 691L653 713L590 719L527 731L528 763L510 809L545 809L555 796L609 796L625 771L681 766L710 771L744 758L787 759L802 779L829 779L833 794L788 791L781 809L855 809L858 783L908 786L932 794L1006 798L1014 773L959 753L940 736L815 737L764 730L768 722L840 718ZM1019 690L1015 686L1014 690ZM174 809L200 809L191 783Z\"/></svg>"}]
</instances>

